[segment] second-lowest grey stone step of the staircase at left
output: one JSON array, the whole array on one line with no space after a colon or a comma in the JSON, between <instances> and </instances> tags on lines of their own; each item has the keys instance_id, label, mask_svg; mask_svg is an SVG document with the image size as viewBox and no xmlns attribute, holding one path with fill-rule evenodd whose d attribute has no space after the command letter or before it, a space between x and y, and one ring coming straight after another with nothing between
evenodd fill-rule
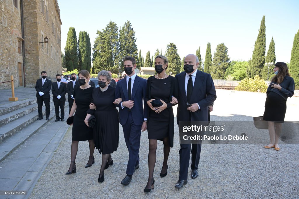
<instances>
[{"instance_id":1,"label":"second-lowest grey stone step of the staircase at left","mask_svg":"<svg viewBox=\"0 0 299 199\"><path fill-rule=\"evenodd\" d=\"M65 105L68 105L68 102L65 102ZM54 104L53 101L50 101L50 113L54 113L55 115L55 109L54 109ZM45 115L45 108L43 107L43 116ZM67 112L65 112L67 113ZM66 116L68 116L66 114ZM32 122L36 121L38 118L38 110L35 110L31 113L28 113L22 117L19 117L17 120L11 121L8 124L5 124L4 126L0 127L0 143L3 142L4 139L7 139L8 137L12 136L13 134L19 132ZM44 119L45 120L45 116ZM39 120L42 121L42 120ZM47 121L47 120L45 120Z\"/></svg>"}]
</instances>

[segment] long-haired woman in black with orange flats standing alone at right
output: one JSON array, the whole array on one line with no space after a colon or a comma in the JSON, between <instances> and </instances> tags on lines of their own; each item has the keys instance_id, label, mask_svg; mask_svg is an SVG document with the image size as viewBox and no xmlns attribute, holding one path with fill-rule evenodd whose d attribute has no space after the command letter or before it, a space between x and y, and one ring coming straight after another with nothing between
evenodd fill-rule
<instances>
[{"instance_id":1,"label":"long-haired woman in black with orange flats standing alone at right","mask_svg":"<svg viewBox=\"0 0 299 199\"><path fill-rule=\"evenodd\" d=\"M267 89L264 120L268 121L270 144L264 148L274 148L279 151L278 140L281 124L286 115L286 100L294 95L295 83L290 77L286 63L277 62L274 67L275 76Z\"/></svg>"}]
</instances>

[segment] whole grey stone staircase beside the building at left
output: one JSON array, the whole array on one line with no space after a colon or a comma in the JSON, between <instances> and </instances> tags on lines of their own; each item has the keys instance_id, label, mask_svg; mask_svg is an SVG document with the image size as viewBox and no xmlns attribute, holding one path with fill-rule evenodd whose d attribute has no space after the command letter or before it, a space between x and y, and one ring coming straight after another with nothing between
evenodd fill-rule
<instances>
[{"instance_id":1,"label":"whole grey stone staircase beside the building at left","mask_svg":"<svg viewBox=\"0 0 299 199\"><path fill-rule=\"evenodd\" d=\"M0 162L18 148L31 135L39 130L46 122L55 118L55 109L50 98L50 120L45 120L45 106L43 104L43 118L38 118L36 98L24 99L1 105L0 107ZM67 97L67 95L66 95ZM68 101L65 101L68 107ZM65 120L68 117L68 108L65 108ZM60 121L61 122L61 121Z\"/></svg>"}]
</instances>

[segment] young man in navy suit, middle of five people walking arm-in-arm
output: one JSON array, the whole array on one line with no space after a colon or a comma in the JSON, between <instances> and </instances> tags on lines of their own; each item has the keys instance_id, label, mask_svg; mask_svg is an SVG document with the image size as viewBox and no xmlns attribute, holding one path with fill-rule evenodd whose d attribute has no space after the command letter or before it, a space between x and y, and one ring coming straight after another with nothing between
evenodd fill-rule
<instances>
[{"instance_id":1,"label":"young man in navy suit, middle of five people walking arm-in-arm","mask_svg":"<svg viewBox=\"0 0 299 199\"><path fill-rule=\"evenodd\" d=\"M123 126L123 135L129 151L127 175L121 184L128 185L134 171L139 168L141 131L147 130L148 106L145 99L147 80L135 74L136 60L133 57L124 57L123 61L127 75L116 84L114 103L119 107L119 122Z\"/></svg>"}]
</instances>

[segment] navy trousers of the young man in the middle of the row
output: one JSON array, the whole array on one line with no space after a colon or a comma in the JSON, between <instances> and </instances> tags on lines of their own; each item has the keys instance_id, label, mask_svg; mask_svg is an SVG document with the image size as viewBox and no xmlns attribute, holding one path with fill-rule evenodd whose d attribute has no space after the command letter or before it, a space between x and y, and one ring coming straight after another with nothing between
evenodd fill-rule
<instances>
[{"instance_id":1,"label":"navy trousers of the young man in the middle of the row","mask_svg":"<svg viewBox=\"0 0 299 199\"><path fill-rule=\"evenodd\" d=\"M139 164L141 126L142 125L134 124L132 112L129 112L127 122L123 125L123 135L129 150L129 161L126 170L127 175L133 175L135 166Z\"/></svg>"}]
</instances>

